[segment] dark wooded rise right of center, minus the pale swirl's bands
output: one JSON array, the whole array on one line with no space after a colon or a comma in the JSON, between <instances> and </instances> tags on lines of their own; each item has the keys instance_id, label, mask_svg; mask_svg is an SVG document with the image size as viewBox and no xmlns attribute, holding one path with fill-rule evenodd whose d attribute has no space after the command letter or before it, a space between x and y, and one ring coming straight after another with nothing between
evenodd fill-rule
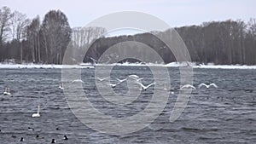
<instances>
[{"instance_id":1,"label":"dark wooded rise right of center, minus the pale swirl's bands","mask_svg":"<svg viewBox=\"0 0 256 144\"><path fill-rule=\"evenodd\" d=\"M212 21L203 23L201 26L177 27L175 30L186 44L192 61L215 64L256 64L255 19L249 20L247 24L241 20ZM156 35L165 33L167 32L154 32ZM166 63L176 61L166 45L150 33L102 37L91 46L84 61L90 61L90 57L98 59L109 47L125 41L147 44L160 54ZM145 54L144 51L139 51L136 55L145 55L151 59L154 57Z\"/></svg>"}]
</instances>

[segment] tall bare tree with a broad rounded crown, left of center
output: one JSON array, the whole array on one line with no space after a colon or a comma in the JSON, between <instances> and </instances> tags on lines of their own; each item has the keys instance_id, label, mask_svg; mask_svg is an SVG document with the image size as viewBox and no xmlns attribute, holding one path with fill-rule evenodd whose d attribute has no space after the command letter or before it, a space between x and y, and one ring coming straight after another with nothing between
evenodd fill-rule
<instances>
[{"instance_id":1,"label":"tall bare tree with a broad rounded crown, left of center","mask_svg":"<svg viewBox=\"0 0 256 144\"><path fill-rule=\"evenodd\" d=\"M49 63L61 64L72 30L67 16L60 10L51 10L44 16L41 26L44 36L44 49L48 49Z\"/></svg>"}]
</instances>

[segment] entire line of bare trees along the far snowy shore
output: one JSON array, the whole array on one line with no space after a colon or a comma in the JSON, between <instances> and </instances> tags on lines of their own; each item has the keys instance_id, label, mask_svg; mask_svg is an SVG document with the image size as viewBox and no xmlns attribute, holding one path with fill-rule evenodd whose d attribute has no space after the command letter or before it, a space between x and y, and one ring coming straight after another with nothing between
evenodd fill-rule
<instances>
[{"instance_id":1,"label":"entire line of bare trees along the far snowy shore","mask_svg":"<svg viewBox=\"0 0 256 144\"><path fill-rule=\"evenodd\" d=\"M215 64L256 64L256 20L212 21L201 26L183 26L175 30L183 38L192 61ZM167 32L168 30L166 30ZM79 63L98 59L115 43L137 41L151 46L163 60L176 61L172 52L150 33L134 36L101 37L102 27L69 26L67 16L60 10L50 10L41 21L39 16L29 20L26 14L12 12L8 7L0 9L0 62L34 62L61 64L67 46L73 47L70 60ZM155 32L156 35L165 32ZM96 40L86 55L84 48ZM68 43L72 42L72 45ZM139 48L138 48L139 49ZM145 55L140 51L137 55ZM109 59L115 54L109 55ZM146 59L153 59L153 56ZM154 60L151 60L154 61Z\"/></svg>"}]
</instances>

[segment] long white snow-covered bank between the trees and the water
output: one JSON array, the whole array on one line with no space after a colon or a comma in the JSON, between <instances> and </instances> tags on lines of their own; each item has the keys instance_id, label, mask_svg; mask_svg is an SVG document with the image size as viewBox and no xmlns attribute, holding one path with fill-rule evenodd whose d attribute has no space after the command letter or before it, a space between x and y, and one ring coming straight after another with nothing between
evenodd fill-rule
<instances>
[{"instance_id":1,"label":"long white snow-covered bank between the trees and the water","mask_svg":"<svg viewBox=\"0 0 256 144\"><path fill-rule=\"evenodd\" d=\"M256 66L241 66L241 65L196 65L195 63L177 63L172 62L169 64L154 64L154 63L117 63L117 64L96 64L95 66L166 66L166 67L178 67L178 66L191 66L193 68L214 68L214 69L256 69ZM17 69L17 68L94 68L91 64L81 65L43 65L43 64L0 64L0 69Z\"/></svg>"}]
</instances>

